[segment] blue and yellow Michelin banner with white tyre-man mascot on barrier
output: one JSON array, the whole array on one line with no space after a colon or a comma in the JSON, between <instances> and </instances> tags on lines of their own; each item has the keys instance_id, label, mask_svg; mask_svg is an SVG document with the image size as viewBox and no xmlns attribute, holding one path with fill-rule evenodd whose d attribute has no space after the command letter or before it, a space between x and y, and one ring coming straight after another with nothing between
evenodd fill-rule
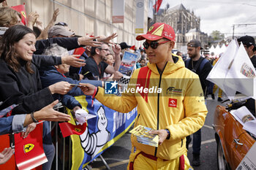
<instances>
[{"instance_id":1,"label":"blue and yellow Michelin banner with white tyre-man mascot on barrier","mask_svg":"<svg viewBox=\"0 0 256 170\"><path fill-rule=\"evenodd\" d=\"M94 100L91 107L91 96L75 97L83 109L97 117L87 120L87 128L81 135L71 135L72 170L83 169L90 161L101 155L130 128L137 116L137 107L129 113L116 112ZM70 110L68 110L69 114ZM76 124L75 120L69 123Z\"/></svg>"}]
</instances>

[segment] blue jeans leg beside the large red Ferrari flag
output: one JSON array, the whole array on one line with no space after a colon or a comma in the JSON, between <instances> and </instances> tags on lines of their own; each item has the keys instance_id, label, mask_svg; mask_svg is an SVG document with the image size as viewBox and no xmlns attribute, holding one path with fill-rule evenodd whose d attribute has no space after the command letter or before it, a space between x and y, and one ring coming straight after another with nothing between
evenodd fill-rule
<instances>
[{"instance_id":1,"label":"blue jeans leg beside the large red Ferrari flag","mask_svg":"<svg viewBox=\"0 0 256 170\"><path fill-rule=\"evenodd\" d=\"M42 144L42 147L44 148L46 158L48 159L48 162L42 164L42 170L50 170L55 155L55 147L53 144Z\"/></svg>"}]
</instances>

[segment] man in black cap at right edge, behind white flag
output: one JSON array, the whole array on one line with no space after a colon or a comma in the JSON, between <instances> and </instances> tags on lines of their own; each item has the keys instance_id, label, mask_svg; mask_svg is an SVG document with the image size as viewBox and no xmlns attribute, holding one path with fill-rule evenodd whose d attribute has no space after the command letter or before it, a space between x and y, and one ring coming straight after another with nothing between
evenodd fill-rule
<instances>
[{"instance_id":1,"label":"man in black cap at right edge, behind white flag","mask_svg":"<svg viewBox=\"0 0 256 170\"><path fill-rule=\"evenodd\" d=\"M249 55L249 58L256 69L256 56L254 54L256 50L255 39L252 36L241 36L237 41L239 45L243 42L246 53Z\"/></svg>"}]
</instances>

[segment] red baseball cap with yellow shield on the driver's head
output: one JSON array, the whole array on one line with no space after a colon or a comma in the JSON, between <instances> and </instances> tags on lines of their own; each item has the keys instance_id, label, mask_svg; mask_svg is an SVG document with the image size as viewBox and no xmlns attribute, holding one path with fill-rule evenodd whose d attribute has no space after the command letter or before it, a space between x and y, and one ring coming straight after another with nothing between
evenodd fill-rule
<instances>
[{"instance_id":1,"label":"red baseball cap with yellow shield on the driver's head","mask_svg":"<svg viewBox=\"0 0 256 170\"><path fill-rule=\"evenodd\" d=\"M143 39L148 39L150 41L157 41L158 39L170 39L170 41L175 42L175 32L173 28L166 23L154 23L153 26L151 26L148 29L147 34L142 34L139 36L136 36L136 39L138 41Z\"/></svg>"}]
</instances>

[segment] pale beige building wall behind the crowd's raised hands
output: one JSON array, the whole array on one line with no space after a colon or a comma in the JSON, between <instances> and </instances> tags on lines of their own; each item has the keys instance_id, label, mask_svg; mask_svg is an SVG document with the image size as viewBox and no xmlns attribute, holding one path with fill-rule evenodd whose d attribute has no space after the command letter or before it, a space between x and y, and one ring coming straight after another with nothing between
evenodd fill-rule
<instances>
[{"instance_id":1,"label":"pale beige building wall behind the crowd's raised hands","mask_svg":"<svg viewBox=\"0 0 256 170\"><path fill-rule=\"evenodd\" d=\"M113 0L8 0L8 6L25 3L26 13L39 13L39 20L47 26L54 9L59 8L58 22L67 23L75 34L83 36L106 35L117 33L113 42L127 42L128 45L140 47L142 42L135 40L136 0L124 1L124 23L112 23ZM144 33L147 31L148 0L144 1ZM1 5L0 5L1 6Z\"/></svg>"}]
</instances>

